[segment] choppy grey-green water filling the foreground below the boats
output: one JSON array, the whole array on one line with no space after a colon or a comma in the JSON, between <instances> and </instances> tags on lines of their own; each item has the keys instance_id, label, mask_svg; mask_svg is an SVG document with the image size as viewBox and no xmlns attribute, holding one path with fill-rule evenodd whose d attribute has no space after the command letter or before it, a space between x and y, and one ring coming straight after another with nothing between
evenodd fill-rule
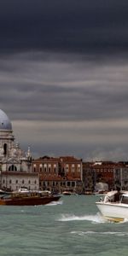
<instances>
[{"instance_id":1,"label":"choppy grey-green water filling the foreground below the boats","mask_svg":"<svg viewBox=\"0 0 128 256\"><path fill-rule=\"evenodd\" d=\"M0 256L128 255L128 222L105 222L95 195L38 207L0 207Z\"/></svg>"}]
</instances>

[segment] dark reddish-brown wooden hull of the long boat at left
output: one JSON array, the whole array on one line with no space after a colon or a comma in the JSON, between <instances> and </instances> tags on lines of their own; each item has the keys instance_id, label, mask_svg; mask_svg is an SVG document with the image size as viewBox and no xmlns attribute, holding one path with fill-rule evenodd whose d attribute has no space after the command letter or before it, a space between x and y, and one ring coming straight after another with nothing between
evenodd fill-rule
<instances>
[{"instance_id":1,"label":"dark reddish-brown wooden hull of the long boat at left","mask_svg":"<svg viewBox=\"0 0 128 256\"><path fill-rule=\"evenodd\" d=\"M59 201L60 196L19 197L13 199L0 199L1 206L38 206L46 205L52 201Z\"/></svg>"}]
</instances>

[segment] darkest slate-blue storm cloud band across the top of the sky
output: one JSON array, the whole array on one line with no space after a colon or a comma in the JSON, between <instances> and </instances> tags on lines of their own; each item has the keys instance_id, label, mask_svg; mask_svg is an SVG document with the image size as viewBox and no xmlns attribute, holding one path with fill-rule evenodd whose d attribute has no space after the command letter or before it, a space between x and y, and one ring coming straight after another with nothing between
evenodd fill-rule
<instances>
[{"instance_id":1,"label":"darkest slate-blue storm cloud band across the top of the sky","mask_svg":"<svg viewBox=\"0 0 128 256\"><path fill-rule=\"evenodd\" d=\"M127 50L128 2L2 0L0 50Z\"/></svg>"}]
</instances>

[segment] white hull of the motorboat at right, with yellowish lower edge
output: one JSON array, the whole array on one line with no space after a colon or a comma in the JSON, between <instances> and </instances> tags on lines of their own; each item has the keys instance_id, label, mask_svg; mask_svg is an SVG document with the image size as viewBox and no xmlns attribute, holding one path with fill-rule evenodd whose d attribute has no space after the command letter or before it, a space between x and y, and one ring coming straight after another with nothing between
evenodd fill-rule
<instances>
[{"instance_id":1,"label":"white hull of the motorboat at right, with yellowish lower edge","mask_svg":"<svg viewBox=\"0 0 128 256\"><path fill-rule=\"evenodd\" d=\"M109 220L120 222L125 218L128 219L128 205L122 203L104 203L96 202L96 206L102 213L104 218Z\"/></svg>"}]
</instances>

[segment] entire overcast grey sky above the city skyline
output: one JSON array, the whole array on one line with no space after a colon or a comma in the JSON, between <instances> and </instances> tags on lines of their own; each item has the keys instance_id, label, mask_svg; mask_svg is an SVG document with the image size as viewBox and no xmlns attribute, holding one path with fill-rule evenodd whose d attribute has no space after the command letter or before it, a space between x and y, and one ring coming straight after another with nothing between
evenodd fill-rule
<instances>
[{"instance_id":1,"label":"entire overcast grey sky above the city skyline","mask_svg":"<svg viewBox=\"0 0 128 256\"><path fill-rule=\"evenodd\" d=\"M128 160L127 14L127 0L0 1L0 108L33 157Z\"/></svg>"}]
</instances>

